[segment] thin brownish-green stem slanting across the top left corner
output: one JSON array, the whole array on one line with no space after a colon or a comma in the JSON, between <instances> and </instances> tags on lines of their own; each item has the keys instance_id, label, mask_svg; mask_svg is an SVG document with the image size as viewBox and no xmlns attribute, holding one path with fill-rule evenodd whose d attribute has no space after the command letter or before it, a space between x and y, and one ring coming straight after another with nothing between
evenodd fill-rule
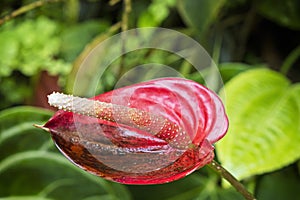
<instances>
[{"instance_id":1,"label":"thin brownish-green stem slanting across the top left corner","mask_svg":"<svg viewBox=\"0 0 300 200\"><path fill-rule=\"evenodd\" d=\"M22 15L30 10L33 10L37 7L41 7L43 5L45 5L46 3L55 3L55 2L59 2L61 0L39 0L39 1L35 1L35 2L32 2L28 5L25 5L25 6L22 6L21 8L13 11L12 13L4 16L2 19L0 19L0 25L4 24L5 22L19 16L19 15Z\"/></svg>"}]
</instances>

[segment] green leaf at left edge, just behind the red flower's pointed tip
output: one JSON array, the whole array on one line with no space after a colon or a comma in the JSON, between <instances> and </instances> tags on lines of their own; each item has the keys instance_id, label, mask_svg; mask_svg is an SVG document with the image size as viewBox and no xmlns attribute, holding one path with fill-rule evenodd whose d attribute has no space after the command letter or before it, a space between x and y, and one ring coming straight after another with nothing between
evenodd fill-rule
<instances>
[{"instance_id":1,"label":"green leaf at left edge, just behind the red flower's pointed tip","mask_svg":"<svg viewBox=\"0 0 300 200\"><path fill-rule=\"evenodd\" d=\"M51 115L49 110L29 106L1 111L0 149L5 151L1 151L0 160L20 151L40 148L46 143L49 136L41 134L33 124L43 124Z\"/></svg>"}]
</instances>

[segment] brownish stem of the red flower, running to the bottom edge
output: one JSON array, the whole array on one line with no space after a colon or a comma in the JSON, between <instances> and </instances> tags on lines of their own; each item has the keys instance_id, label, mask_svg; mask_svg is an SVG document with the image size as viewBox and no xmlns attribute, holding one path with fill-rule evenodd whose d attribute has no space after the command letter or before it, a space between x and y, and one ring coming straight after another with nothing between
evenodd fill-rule
<instances>
[{"instance_id":1,"label":"brownish stem of the red flower, running to the bottom edge","mask_svg":"<svg viewBox=\"0 0 300 200\"><path fill-rule=\"evenodd\" d=\"M241 193L247 200L256 200L256 198L241 184L229 171L223 168L219 163L213 160L208 164L215 172L222 178L226 179L239 193Z\"/></svg>"}]
</instances>

